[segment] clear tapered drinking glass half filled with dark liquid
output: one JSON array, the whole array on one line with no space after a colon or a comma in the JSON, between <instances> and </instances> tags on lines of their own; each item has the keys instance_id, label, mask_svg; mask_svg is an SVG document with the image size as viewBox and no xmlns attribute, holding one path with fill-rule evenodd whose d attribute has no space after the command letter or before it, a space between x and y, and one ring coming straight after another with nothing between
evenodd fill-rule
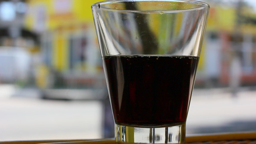
<instances>
[{"instance_id":1,"label":"clear tapered drinking glass half filled with dark liquid","mask_svg":"<svg viewBox=\"0 0 256 144\"><path fill-rule=\"evenodd\" d=\"M184 143L209 8L192 0L92 5L117 143Z\"/></svg>"}]
</instances>

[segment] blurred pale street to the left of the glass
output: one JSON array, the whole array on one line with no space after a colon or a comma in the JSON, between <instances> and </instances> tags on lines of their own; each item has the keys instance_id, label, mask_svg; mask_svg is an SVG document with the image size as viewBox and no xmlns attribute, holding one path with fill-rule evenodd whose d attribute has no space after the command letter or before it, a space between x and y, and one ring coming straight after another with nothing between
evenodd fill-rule
<instances>
[{"instance_id":1,"label":"blurred pale street to the left of the glass","mask_svg":"<svg viewBox=\"0 0 256 144\"><path fill-rule=\"evenodd\" d=\"M36 92L9 94L0 95L0 141L102 137L99 101L42 100Z\"/></svg>"}]
</instances>

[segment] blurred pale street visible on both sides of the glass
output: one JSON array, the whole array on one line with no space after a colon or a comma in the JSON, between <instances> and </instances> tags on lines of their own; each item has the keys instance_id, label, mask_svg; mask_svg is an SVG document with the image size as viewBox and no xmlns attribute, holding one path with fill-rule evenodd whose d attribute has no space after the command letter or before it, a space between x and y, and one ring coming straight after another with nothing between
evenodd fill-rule
<instances>
[{"instance_id":1,"label":"blurred pale street visible on both sides of the glass","mask_svg":"<svg viewBox=\"0 0 256 144\"><path fill-rule=\"evenodd\" d=\"M102 137L100 101L42 100L35 94L0 95L0 141ZM256 91L247 88L240 88L236 98L228 89L195 89L187 134L232 132L232 128L256 131L255 103Z\"/></svg>"}]
</instances>

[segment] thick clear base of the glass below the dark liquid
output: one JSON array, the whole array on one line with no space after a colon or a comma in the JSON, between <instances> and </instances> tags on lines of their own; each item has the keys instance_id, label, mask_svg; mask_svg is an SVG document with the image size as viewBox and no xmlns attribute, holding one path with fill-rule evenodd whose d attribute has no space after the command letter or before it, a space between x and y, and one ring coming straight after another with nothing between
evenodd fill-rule
<instances>
[{"instance_id":1,"label":"thick clear base of the glass below the dark liquid","mask_svg":"<svg viewBox=\"0 0 256 144\"><path fill-rule=\"evenodd\" d=\"M133 127L115 124L115 141L144 144L185 144L186 124L169 127Z\"/></svg>"}]
</instances>

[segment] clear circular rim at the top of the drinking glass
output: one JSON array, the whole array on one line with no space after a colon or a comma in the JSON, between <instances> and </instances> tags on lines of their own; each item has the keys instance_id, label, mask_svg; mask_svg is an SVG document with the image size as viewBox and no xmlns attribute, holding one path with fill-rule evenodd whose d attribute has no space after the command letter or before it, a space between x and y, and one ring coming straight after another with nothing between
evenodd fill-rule
<instances>
[{"instance_id":1,"label":"clear circular rim at the top of the drinking glass","mask_svg":"<svg viewBox=\"0 0 256 144\"><path fill-rule=\"evenodd\" d=\"M156 2L180 2L180 3L194 3L197 4L201 7L197 7L197 8L190 8L190 9L181 9L181 10L119 10L119 9L112 9L112 8L106 8L106 7L100 7L101 9L105 9L105 10L112 10L112 11L123 11L123 12L139 12L139 13L157 13L159 11L161 12L184 12L187 10L200 10L200 9L204 9L204 8L210 8L210 5L204 2L200 2L200 1L196 1L196 0L105 0L105 1L101 1L101 2L97 2L92 4L91 8L94 7L99 7L101 4L110 4L110 3L121 3L121 2L139 2L139 1L144 1L144 2L150 2L150 1L156 1Z\"/></svg>"}]
</instances>

